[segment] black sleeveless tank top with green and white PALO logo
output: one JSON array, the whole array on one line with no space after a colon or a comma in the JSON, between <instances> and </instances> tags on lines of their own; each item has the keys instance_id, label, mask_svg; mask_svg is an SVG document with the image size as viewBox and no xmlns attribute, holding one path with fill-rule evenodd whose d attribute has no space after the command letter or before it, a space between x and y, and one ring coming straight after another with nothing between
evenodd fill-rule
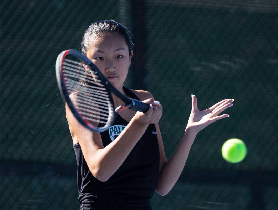
<instances>
[{"instance_id":1,"label":"black sleeveless tank top with green and white PALO logo","mask_svg":"<svg viewBox=\"0 0 278 210\"><path fill-rule=\"evenodd\" d=\"M123 90L130 98L139 98L128 88ZM103 146L110 144L128 124L118 115L111 127L101 132ZM149 205L155 192L159 174L159 146L155 125L150 124L131 150L120 168L101 182L90 172L79 143L73 145L78 166L78 202L104 200L115 203Z\"/></svg>"}]
</instances>

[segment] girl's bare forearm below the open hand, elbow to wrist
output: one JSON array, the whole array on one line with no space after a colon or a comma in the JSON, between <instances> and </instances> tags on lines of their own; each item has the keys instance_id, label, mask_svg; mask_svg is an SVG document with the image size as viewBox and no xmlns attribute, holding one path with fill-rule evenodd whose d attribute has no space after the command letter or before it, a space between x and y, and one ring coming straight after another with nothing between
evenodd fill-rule
<instances>
[{"instance_id":1,"label":"girl's bare forearm below the open hand, elbow to wrist","mask_svg":"<svg viewBox=\"0 0 278 210\"><path fill-rule=\"evenodd\" d=\"M156 189L158 194L166 195L177 182L196 135L197 134L190 131L190 128L185 130L173 156L160 170Z\"/></svg>"}]
</instances>

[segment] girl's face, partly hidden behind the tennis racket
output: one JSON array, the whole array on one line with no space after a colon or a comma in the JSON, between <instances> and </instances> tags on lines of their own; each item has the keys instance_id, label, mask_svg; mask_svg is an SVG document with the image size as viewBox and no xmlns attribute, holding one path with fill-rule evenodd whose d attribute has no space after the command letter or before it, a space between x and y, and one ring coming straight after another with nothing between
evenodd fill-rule
<instances>
[{"instance_id":1,"label":"girl's face, partly hidden behind the tennis racket","mask_svg":"<svg viewBox=\"0 0 278 210\"><path fill-rule=\"evenodd\" d=\"M112 85L122 87L133 55L133 51L129 55L124 38L116 33L105 33L96 35L90 44L86 56Z\"/></svg>"}]
</instances>

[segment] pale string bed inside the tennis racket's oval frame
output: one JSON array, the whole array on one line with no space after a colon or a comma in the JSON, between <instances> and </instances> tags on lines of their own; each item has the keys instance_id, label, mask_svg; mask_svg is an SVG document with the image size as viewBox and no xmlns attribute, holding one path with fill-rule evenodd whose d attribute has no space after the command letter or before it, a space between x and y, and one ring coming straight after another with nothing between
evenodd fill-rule
<instances>
[{"instance_id":1,"label":"pale string bed inside the tennis racket's oval frame","mask_svg":"<svg viewBox=\"0 0 278 210\"><path fill-rule=\"evenodd\" d=\"M67 91L74 95L74 105L83 119L96 127L104 127L111 121L111 115L114 115L112 100L97 75L92 75L80 61L65 58L63 79Z\"/></svg>"}]
</instances>

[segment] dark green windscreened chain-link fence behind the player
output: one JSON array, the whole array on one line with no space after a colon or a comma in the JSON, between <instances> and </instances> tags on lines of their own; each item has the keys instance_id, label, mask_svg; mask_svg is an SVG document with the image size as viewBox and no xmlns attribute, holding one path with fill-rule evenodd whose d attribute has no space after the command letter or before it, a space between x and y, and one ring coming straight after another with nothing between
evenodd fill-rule
<instances>
[{"instance_id":1,"label":"dark green windscreened chain-link fence behind the player","mask_svg":"<svg viewBox=\"0 0 278 210\"><path fill-rule=\"evenodd\" d=\"M102 0L0 3L1 209L79 209L77 164L55 61L79 49L86 28L113 19L135 44L125 86L163 105L167 159L191 112L225 98L234 106L196 137L183 173L153 209L277 209L278 2ZM276 85L275 85L276 84ZM223 143L247 157L226 162Z\"/></svg>"}]
</instances>

